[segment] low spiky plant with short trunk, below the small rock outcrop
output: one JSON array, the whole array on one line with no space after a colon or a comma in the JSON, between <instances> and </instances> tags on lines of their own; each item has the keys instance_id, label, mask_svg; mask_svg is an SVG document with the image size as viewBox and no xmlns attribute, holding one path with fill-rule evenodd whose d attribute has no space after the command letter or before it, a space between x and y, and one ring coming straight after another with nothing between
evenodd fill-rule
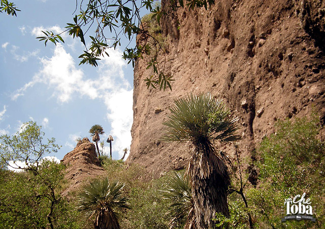
<instances>
[{"instance_id":1,"label":"low spiky plant with short trunk, below the small rock outcrop","mask_svg":"<svg viewBox=\"0 0 325 229\"><path fill-rule=\"evenodd\" d=\"M78 209L86 217L94 217L95 229L119 229L116 210L129 208L127 199L122 196L124 183L108 178L96 179L86 185L77 197Z\"/></svg>"}]
</instances>

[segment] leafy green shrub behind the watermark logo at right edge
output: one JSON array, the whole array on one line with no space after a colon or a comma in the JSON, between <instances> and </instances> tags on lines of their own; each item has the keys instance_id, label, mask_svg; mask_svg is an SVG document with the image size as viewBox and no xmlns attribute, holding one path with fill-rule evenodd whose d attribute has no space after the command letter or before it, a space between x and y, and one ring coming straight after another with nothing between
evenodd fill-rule
<instances>
[{"instance_id":1,"label":"leafy green shrub behind the watermark logo at right edge","mask_svg":"<svg viewBox=\"0 0 325 229\"><path fill-rule=\"evenodd\" d=\"M319 138L319 119L279 121L276 133L262 141L257 188L247 192L249 205L260 228L325 228L325 144ZM306 193L316 222L288 220L284 201Z\"/></svg>"}]
</instances>

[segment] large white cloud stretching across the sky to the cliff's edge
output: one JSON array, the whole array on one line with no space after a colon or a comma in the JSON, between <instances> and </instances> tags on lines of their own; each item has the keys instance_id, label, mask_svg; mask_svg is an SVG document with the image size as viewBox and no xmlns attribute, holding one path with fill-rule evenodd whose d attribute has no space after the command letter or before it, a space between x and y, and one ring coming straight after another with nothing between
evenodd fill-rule
<instances>
[{"instance_id":1,"label":"large white cloud stretching across the sky to the cliff's edge","mask_svg":"<svg viewBox=\"0 0 325 229\"><path fill-rule=\"evenodd\" d=\"M114 137L113 151L119 157L123 155L123 148L131 144L131 126L133 122L133 90L124 78L123 67L126 66L121 59L122 52L108 50L110 57L99 63L98 78L86 79L84 72L77 68L72 56L58 44L51 58L42 58L42 69L32 81L18 89L12 99L17 99L36 83L43 83L53 90L53 97L59 103L66 103L74 96L81 95L90 99L102 100L107 108L107 119L111 123L111 133ZM79 137L79 136L78 136ZM66 145L74 148L75 143L70 139Z\"/></svg>"}]
</instances>

